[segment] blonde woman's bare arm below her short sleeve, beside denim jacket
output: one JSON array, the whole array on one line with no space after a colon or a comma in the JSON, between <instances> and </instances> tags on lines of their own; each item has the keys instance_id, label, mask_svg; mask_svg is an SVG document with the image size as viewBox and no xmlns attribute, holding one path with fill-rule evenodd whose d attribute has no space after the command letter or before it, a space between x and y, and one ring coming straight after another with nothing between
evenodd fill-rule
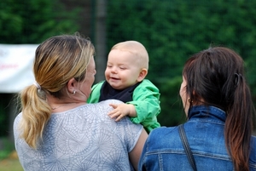
<instances>
[{"instance_id":1,"label":"blonde woman's bare arm below her short sleeve, beside denim jacket","mask_svg":"<svg viewBox=\"0 0 256 171\"><path fill-rule=\"evenodd\" d=\"M138 162L141 157L143 146L145 141L148 138L148 134L146 133L145 129L143 129L142 134L140 135L139 139L137 140L137 144L134 146L132 151L129 153L129 158L133 168L137 170Z\"/></svg>"}]
</instances>

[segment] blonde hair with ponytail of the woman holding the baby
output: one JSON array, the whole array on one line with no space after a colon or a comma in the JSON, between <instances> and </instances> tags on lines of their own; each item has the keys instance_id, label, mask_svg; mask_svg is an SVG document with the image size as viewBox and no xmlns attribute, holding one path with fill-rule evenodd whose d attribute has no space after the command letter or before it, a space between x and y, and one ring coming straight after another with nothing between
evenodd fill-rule
<instances>
[{"instance_id":1,"label":"blonde hair with ponytail of the woman holding the baby","mask_svg":"<svg viewBox=\"0 0 256 171\"><path fill-rule=\"evenodd\" d=\"M61 98L61 89L71 78L83 81L94 53L90 40L79 34L50 37L38 46L33 64L38 86L28 86L20 93L21 137L32 148L37 147L38 138L42 140L45 124L51 114L45 94Z\"/></svg>"}]
</instances>

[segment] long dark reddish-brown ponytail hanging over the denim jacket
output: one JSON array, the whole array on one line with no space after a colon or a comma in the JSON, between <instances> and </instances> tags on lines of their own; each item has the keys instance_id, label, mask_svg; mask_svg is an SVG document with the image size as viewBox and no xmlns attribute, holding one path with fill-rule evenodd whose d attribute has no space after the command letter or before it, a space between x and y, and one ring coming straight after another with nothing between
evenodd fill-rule
<instances>
[{"instance_id":1,"label":"long dark reddish-brown ponytail hanging over the denim jacket","mask_svg":"<svg viewBox=\"0 0 256 171\"><path fill-rule=\"evenodd\" d=\"M250 140L253 132L253 101L250 89L240 75L234 103L227 111L224 135L235 170L249 170Z\"/></svg>"}]
</instances>

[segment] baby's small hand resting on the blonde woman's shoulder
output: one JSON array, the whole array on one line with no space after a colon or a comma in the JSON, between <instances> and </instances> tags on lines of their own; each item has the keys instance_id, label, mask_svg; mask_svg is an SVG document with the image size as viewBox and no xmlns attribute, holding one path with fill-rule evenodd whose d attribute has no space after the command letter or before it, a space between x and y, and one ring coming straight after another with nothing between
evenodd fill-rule
<instances>
[{"instance_id":1,"label":"baby's small hand resting on the blonde woman's shoulder","mask_svg":"<svg viewBox=\"0 0 256 171\"><path fill-rule=\"evenodd\" d=\"M119 121L121 118L125 116L130 116L132 114L132 110L135 111L134 106L130 104L110 104L113 107L113 111L108 113L108 116L111 118L116 117L115 121Z\"/></svg>"}]
</instances>

